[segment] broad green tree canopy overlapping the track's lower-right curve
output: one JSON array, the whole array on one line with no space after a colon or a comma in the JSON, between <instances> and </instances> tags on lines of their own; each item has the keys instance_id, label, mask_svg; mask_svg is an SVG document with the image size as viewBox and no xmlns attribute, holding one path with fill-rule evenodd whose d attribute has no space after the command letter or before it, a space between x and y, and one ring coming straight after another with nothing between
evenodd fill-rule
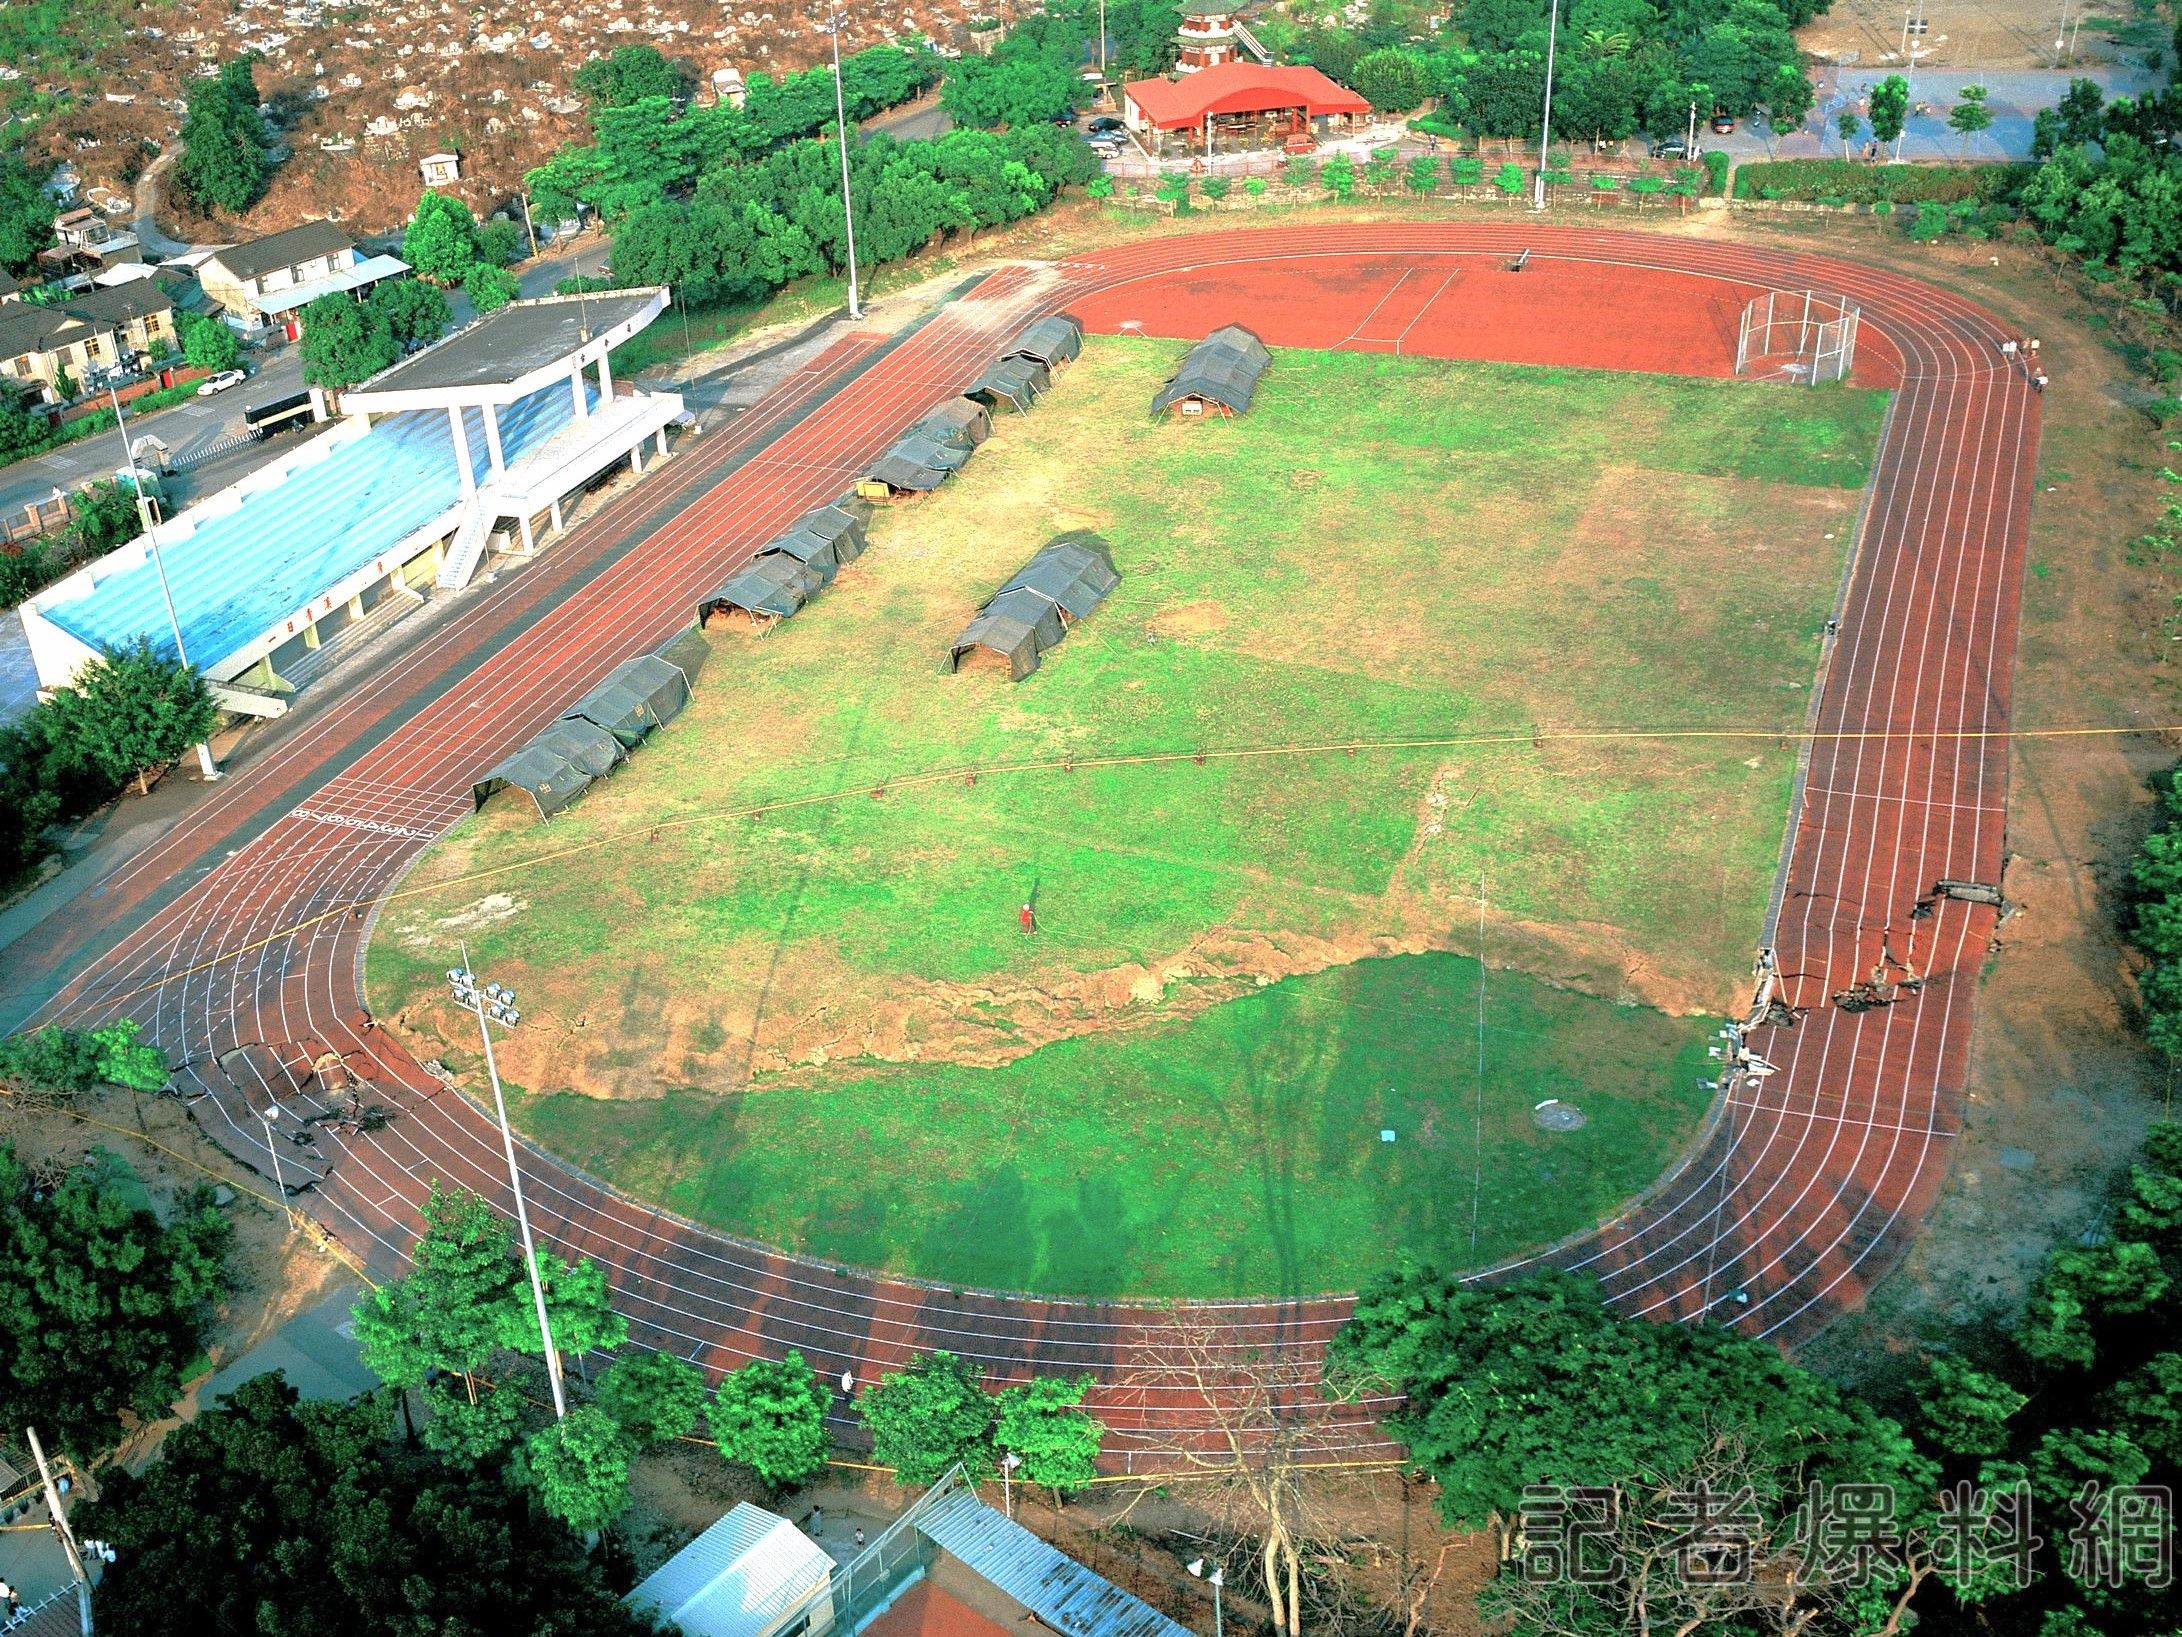
<instances>
[{"instance_id":1,"label":"broad green tree canopy overlapping the track's lower-right curve","mask_svg":"<svg viewBox=\"0 0 2182 1637\"><path fill-rule=\"evenodd\" d=\"M1381 1275L1327 1355L1335 1395L1399 1393L1386 1430L1440 1484L1455 1528L1512 1517L1532 1482L1612 1484L1700 1471L1722 1432L1763 1454L1761 1504L1805 1480L1935 1473L1907 1434L1763 1340L1608 1310L1595 1281L1538 1272L1468 1286L1429 1268Z\"/></svg>"}]
</instances>

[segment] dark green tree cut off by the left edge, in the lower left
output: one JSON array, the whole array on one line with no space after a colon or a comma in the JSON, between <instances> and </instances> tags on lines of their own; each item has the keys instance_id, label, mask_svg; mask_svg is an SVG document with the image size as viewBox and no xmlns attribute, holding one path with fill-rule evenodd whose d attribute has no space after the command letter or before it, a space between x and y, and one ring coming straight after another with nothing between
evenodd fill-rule
<instances>
[{"instance_id":1,"label":"dark green tree cut off by the left edge, in the lower left","mask_svg":"<svg viewBox=\"0 0 2182 1637\"><path fill-rule=\"evenodd\" d=\"M161 1224L107 1163L39 1185L0 1144L0 1425L35 1425L76 1460L181 1395L227 1290L227 1220L188 1194Z\"/></svg>"}]
</instances>

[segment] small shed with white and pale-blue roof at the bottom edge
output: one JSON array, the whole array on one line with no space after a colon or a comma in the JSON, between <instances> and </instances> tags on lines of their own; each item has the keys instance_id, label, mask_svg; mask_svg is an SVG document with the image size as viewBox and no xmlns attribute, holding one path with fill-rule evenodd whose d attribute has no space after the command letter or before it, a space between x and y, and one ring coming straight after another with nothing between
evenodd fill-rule
<instances>
[{"instance_id":1,"label":"small shed with white and pale-blue roof at the bottom edge","mask_svg":"<svg viewBox=\"0 0 2182 1637\"><path fill-rule=\"evenodd\" d=\"M786 1517L738 1502L624 1602L685 1637L825 1630L834 1622L834 1558Z\"/></svg>"}]
</instances>

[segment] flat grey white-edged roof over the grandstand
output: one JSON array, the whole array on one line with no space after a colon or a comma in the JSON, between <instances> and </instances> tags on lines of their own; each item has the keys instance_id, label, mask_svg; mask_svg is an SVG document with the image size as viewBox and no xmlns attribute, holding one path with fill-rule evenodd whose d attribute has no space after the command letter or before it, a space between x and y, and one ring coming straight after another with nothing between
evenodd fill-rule
<instances>
[{"instance_id":1,"label":"flat grey white-edged roof over the grandstand","mask_svg":"<svg viewBox=\"0 0 2182 1637\"><path fill-rule=\"evenodd\" d=\"M668 308L668 288L511 301L340 395L349 413L513 404L604 358Z\"/></svg>"}]
</instances>

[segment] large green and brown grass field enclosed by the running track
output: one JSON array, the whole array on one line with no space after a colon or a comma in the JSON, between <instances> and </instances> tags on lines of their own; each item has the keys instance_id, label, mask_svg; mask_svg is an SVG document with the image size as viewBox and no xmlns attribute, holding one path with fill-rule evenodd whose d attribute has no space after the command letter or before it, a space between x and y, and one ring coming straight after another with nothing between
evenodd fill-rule
<instances>
[{"instance_id":1,"label":"large green and brown grass field enclosed by the running track","mask_svg":"<svg viewBox=\"0 0 2182 1637\"><path fill-rule=\"evenodd\" d=\"M1883 399L1283 351L1248 417L1152 423L1178 351L1093 340L803 616L716 631L611 784L436 847L375 1011L467 1061L434 1000L467 936L524 991L537 1135L958 1283L1324 1290L1468 1259L1473 1194L1490 1259L1658 1174ZM1113 598L1021 685L943 674L1065 528L1111 541ZM1752 736L1564 738L1722 725ZM1065 766L1115 755L1170 760ZM1584 1131L1530 1124L1571 1087Z\"/></svg>"}]
</instances>

